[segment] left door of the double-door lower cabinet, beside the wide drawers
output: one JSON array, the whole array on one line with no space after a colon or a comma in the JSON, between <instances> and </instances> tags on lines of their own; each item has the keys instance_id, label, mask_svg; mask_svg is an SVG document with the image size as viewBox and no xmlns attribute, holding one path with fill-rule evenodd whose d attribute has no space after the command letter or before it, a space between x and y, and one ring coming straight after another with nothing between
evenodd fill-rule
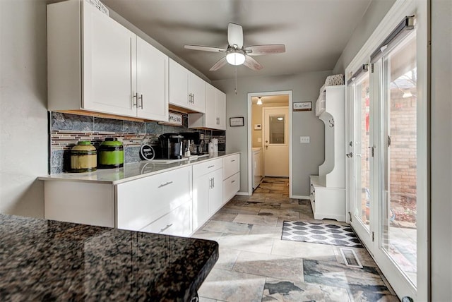
<instances>
[{"instance_id":1,"label":"left door of the double-door lower cabinet, beside the wide drawers","mask_svg":"<svg viewBox=\"0 0 452 302\"><path fill-rule=\"evenodd\" d=\"M193 229L201 227L210 217L210 174L193 179Z\"/></svg>"}]
</instances>

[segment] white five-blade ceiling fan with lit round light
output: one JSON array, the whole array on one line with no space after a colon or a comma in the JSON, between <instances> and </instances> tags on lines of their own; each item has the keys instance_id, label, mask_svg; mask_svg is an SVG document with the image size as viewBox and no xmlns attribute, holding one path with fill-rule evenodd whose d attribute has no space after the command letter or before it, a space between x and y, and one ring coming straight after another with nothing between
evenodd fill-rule
<instances>
[{"instance_id":1,"label":"white five-blade ceiling fan with lit round light","mask_svg":"<svg viewBox=\"0 0 452 302\"><path fill-rule=\"evenodd\" d=\"M227 49L219 47L184 45L186 49L202 50L204 52L224 52L226 55L218 60L210 68L210 71L216 71L226 63L231 65L244 65L254 71L262 69L262 65L251 56L261 56L263 54L280 54L285 52L284 44L266 44L243 46L243 28L242 25L229 23L227 26Z\"/></svg>"}]
</instances>

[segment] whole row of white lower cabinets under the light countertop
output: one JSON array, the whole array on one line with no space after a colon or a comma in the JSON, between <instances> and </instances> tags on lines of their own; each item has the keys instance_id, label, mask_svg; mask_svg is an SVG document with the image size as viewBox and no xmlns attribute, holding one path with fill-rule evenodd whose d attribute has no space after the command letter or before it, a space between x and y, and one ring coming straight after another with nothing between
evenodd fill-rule
<instances>
[{"instance_id":1,"label":"whole row of white lower cabinets under the light countertop","mask_svg":"<svg viewBox=\"0 0 452 302\"><path fill-rule=\"evenodd\" d=\"M116 185L43 177L44 218L190 236L239 191L239 159L203 160Z\"/></svg>"}]
</instances>

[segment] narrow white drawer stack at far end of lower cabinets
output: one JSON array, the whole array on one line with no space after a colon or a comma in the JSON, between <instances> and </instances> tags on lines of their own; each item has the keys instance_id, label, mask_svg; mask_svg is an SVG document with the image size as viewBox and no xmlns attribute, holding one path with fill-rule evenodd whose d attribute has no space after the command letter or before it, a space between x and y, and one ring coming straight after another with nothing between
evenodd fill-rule
<instances>
[{"instance_id":1,"label":"narrow white drawer stack at far end of lower cabinets","mask_svg":"<svg viewBox=\"0 0 452 302\"><path fill-rule=\"evenodd\" d=\"M240 155L223 157L223 204L240 190Z\"/></svg>"}]
</instances>

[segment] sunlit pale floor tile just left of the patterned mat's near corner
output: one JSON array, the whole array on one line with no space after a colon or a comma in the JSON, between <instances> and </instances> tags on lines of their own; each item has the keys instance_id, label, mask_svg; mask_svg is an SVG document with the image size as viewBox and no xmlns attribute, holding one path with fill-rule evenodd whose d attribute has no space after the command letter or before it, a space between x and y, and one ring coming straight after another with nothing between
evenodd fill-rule
<instances>
[{"instance_id":1,"label":"sunlit pale floor tile just left of the patterned mat's near corner","mask_svg":"<svg viewBox=\"0 0 452 302\"><path fill-rule=\"evenodd\" d=\"M262 236L223 234L217 242L224 248L270 254L273 240Z\"/></svg>"}]
</instances>

